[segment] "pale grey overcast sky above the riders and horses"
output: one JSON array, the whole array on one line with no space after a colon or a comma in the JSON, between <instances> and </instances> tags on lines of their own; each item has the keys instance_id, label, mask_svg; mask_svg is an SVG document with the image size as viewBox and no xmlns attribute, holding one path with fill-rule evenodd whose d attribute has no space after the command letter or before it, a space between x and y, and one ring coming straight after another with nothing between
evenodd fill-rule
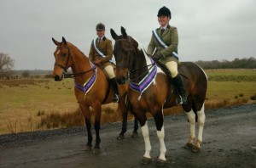
<instances>
[{"instance_id":1,"label":"pale grey overcast sky above the riders and horses","mask_svg":"<svg viewBox=\"0 0 256 168\"><path fill-rule=\"evenodd\" d=\"M120 34L124 26L147 49L163 6L181 61L256 58L256 0L0 0L0 53L15 59L15 70L52 70L51 37L88 55L98 22L112 41L110 28Z\"/></svg>"}]
</instances>

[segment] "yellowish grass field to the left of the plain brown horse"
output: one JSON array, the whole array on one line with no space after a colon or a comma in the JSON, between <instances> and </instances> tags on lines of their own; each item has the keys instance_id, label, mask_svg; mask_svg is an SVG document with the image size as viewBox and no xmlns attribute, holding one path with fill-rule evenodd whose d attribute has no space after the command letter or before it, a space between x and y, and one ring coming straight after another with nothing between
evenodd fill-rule
<instances>
[{"instance_id":1,"label":"yellowish grass field to the left of the plain brown horse","mask_svg":"<svg viewBox=\"0 0 256 168\"><path fill-rule=\"evenodd\" d=\"M10 132L8 126L14 132L34 130L38 113L78 109L71 79L0 81L0 92L0 134Z\"/></svg>"}]
</instances>

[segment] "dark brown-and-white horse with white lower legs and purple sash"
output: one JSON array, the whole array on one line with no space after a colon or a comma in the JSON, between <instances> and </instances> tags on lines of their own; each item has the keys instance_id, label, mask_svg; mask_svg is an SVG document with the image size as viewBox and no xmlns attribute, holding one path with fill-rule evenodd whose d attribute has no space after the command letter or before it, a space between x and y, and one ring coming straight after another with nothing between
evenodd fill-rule
<instances>
[{"instance_id":1,"label":"dark brown-and-white horse with white lower legs and purple sash","mask_svg":"<svg viewBox=\"0 0 256 168\"><path fill-rule=\"evenodd\" d=\"M113 29L111 36L115 40L113 55L116 59L116 78L119 84L129 80L128 98L139 120L144 143L145 153L141 163L148 164L151 160L151 144L149 141L148 121L146 113L154 117L157 137L160 140L160 156L157 164L166 162L166 145L164 142L164 115L163 109L177 105L177 92L171 85L165 73L158 69L154 60L148 57L142 45L121 27L118 36ZM183 75L184 87L189 104L183 105L190 123L190 136L184 148L194 152L201 149L202 132L205 123L204 103L207 93L207 75L200 66L191 62L183 62L178 71ZM195 140L195 122L198 121L198 137ZM195 144L194 144L195 143Z\"/></svg>"}]
</instances>

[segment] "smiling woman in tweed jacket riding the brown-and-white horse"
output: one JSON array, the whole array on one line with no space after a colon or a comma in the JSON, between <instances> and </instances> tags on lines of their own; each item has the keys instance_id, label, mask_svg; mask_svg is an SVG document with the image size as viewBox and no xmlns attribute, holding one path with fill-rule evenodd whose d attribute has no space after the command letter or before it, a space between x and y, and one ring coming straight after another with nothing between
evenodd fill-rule
<instances>
[{"instance_id":1,"label":"smiling woman in tweed jacket riding the brown-and-white horse","mask_svg":"<svg viewBox=\"0 0 256 168\"><path fill-rule=\"evenodd\" d=\"M172 18L169 8L165 6L160 8L157 16L160 28L153 31L147 53L149 55L153 54L152 59L155 61L166 65L167 69L171 72L173 84L177 87L177 92L181 97L180 104L188 104L183 80L177 72L177 64L179 64L177 56L177 28L169 25L169 21Z\"/></svg>"}]
</instances>

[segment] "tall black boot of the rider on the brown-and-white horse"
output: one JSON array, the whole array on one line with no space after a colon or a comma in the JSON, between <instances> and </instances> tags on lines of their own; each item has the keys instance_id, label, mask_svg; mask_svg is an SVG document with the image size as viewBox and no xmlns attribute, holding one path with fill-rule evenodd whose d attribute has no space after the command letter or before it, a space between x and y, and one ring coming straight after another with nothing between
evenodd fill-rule
<instances>
[{"instance_id":1,"label":"tall black boot of the rider on the brown-and-white horse","mask_svg":"<svg viewBox=\"0 0 256 168\"><path fill-rule=\"evenodd\" d=\"M183 79L181 78L181 76L179 74L177 74L177 76L172 78L173 84L175 85L175 87L177 88L177 92L180 95L182 102L180 104L188 104L188 100L187 100L187 96L186 96L186 92L184 89L184 85L183 85Z\"/></svg>"}]
</instances>

